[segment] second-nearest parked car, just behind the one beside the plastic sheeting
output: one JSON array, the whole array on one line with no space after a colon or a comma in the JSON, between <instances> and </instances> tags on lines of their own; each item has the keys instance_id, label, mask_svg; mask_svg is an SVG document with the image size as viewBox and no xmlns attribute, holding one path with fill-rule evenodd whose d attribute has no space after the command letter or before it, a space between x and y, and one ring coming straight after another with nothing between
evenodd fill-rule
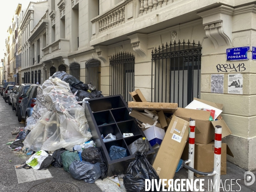
<instances>
[{"instance_id":1,"label":"second-nearest parked car, just behind the one beside the plastic sheeting","mask_svg":"<svg viewBox=\"0 0 256 192\"><path fill-rule=\"evenodd\" d=\"M28 83L20 84L20 86L15 91L14 96L12 97L12 110L16 111L16 116L18 116L20 103L21 103L21 100L23 99L21 95L25 94L31 85L32 84L28 84Z\"/></svg>"}]
</instances>

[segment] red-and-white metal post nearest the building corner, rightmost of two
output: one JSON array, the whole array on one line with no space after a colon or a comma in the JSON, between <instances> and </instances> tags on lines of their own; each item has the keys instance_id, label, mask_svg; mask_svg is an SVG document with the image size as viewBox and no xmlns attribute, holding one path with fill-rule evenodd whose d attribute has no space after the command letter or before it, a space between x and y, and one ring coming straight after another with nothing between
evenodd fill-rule
<instances>
[{"instance_id":1,"label":"red-and-white metal post nearest the building corner, rightmost of two","mask_svg":"<svg viewBox=\"0 0 256 192\"><path fill-rule=\"evenodd\" d=\"M221 133L222 127L219 125L215 126L215 142L214 142L214 171L216 172L213 176L214 189L213 192L219 192L219 186L221 182ZM215 187L216 183L216 187Z\"/></svg>"}]
</instances>

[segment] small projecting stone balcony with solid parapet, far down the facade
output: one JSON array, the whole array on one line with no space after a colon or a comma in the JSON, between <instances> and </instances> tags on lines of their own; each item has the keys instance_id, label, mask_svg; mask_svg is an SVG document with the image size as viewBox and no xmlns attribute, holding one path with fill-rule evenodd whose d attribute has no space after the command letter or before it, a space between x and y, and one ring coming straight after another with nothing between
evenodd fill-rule
<instances>
[{"instance_id":1,"label":"small projecting stone balcony with solid parapet, far down the facade","mask_svg":"<svg viewBox=\"0 0 256 192\"><path fill-rule=\"evenodd\" d=\"M42 49L43 55L41 61L44 62L53 58L67 56L69 48L69 40L61 38Z\"/></svg>"}]
</instances>

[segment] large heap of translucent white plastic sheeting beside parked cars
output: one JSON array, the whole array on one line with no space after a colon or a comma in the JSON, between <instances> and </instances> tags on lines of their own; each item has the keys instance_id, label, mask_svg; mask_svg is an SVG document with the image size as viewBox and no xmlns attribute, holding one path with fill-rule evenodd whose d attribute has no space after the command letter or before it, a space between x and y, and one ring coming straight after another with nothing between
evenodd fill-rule
<instances>
[{"instance_id":1,"label":"large heap of translucent white plastic sheeting beside parked cars","mask_svg":"<svg viewBox=\"0 0 256 192\"><path fill-rule=\"evenodd\" d=\"M38 89L34 111L40 113L28 118L27 127L31 132L24 140L25 148L33 151L66 148L72 151L74 145L90 140L92 135L88 131L84 108L77 103L68 83L52 76Z\"/></svg>"}]
</instances>

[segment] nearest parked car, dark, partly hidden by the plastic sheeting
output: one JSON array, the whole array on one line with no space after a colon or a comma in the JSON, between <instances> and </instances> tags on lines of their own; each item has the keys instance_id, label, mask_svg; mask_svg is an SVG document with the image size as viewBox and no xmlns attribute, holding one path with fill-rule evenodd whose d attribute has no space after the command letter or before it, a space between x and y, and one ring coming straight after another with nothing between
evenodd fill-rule
<instances>
[{"instance_id":1,"label":"nearest parked car, dark, partly hidden by the plastic sheeting","mask_svg":"<svg viewBox=\"0 0 256 192\"><path fill-rule=\"evenodd\" d=\"M23 99L21 100L18 111L18 121L21 122L21 120L24 119L25 126L26 119L32 115L33 107L35 106L38 85L39 84L32 84L26 93L20 96Z\"/></svg>"}]
</instances>

